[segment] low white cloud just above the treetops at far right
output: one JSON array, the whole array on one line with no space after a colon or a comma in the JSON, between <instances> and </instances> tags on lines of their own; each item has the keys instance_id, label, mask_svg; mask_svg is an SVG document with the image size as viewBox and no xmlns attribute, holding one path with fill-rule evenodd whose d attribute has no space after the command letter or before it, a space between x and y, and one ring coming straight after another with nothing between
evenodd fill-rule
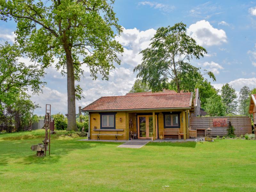
<instances>
[{"instance_id":1,"label":"low white cloud just above the treetops at far right","mask_svg":"<svg viewBox=\"0 0 256 192\"><path fill-rule=\"evenodd\" d=\"M236 90L236 92L240 92L240 89L243 86L248 86L250 89L254 88L256 85L256 78L239 78L233 81L228 82L228 84L232 85L232 87ZM221 89L223 84L212 84L215 88Z\"/></svg>"}]
</instances>

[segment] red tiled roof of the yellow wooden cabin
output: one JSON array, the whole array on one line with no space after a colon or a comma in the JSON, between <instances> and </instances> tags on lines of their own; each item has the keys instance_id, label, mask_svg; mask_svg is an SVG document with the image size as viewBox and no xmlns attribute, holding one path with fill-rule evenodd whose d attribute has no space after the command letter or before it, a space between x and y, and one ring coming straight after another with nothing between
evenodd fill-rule
<instances>
[{"instance_id":1,"label":"red tiled roof of the yellow wooden cabin","mask_svg":"<svg viewBox=\"0 0 256 192\"><path fill-rule=\"evenodd\" d=\"M108 96L92 102L83 111L129 110L157 108L191 108L191 92L175 91L127 93L124 96Z\"/></svg>"}]
</instances>

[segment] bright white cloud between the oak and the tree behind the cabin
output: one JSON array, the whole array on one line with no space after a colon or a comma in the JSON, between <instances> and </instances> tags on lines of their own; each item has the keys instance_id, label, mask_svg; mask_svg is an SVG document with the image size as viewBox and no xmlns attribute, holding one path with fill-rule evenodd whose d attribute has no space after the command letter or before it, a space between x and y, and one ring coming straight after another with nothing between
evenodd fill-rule
<instances>
[{"instance_id":1,"label":"bright white cloud between the oak and the tree behind the cabin","mask_svg":"<svg viewBox=\"0 0 256 192\"><path fill-rule=\"evenodd\" d=\"M150 44L150 39L155 35L155 29L140 31L137 28L125 29L121 36L116 37L116 40L124 46L123 56L119 57L122 63L126 63L132 67L141 63L142 55L140 51L146 49Z\"/></svg>"}]
</instances>

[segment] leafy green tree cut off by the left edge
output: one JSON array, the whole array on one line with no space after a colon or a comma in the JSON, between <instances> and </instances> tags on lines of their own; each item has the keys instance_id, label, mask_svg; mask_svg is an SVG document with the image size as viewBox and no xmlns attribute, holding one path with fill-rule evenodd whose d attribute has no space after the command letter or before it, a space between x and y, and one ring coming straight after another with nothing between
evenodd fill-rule
<instances>
[{"instance_id":1,"label":"leafy green tree cut off by the left edge","mask_svg":"<svg viewBox=\"0 0 256 192\"><path fill-rule=\"evenodd\" d=\"M33 93L38 93L45 84L41 80L44 70L40 65L26 66L18 61L20 57L22 54L17 44L10 45L6 42L0 45L0 116L4 109L16 102L20 94L28 91L28 87Z\"/></svg>"}]
</instances>

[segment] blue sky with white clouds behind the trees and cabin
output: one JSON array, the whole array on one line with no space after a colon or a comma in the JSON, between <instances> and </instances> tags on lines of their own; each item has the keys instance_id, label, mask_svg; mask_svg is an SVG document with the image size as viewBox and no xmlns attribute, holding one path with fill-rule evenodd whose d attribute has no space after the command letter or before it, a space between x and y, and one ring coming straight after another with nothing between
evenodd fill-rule
<instances>
[{"instance_id":1,"label":"blue sky with white clouds behind the trees and cabin","mask_svg":"<svg viewBox=\"0 0 256 192\"><path fill-rule=\"evenodd\" d=\"M116 39L124 45L120 56L122 64L110 72L109 81L96 81L85 70L85 78L79 83L85 99L77 101L76 107L85 106L101 96L124 95L135 81L133 68L140 63L138 53L147 48L156 29L172 26L182 21L188 34L204 46L208 54L191 63L212 71L216 88L230 83L238 92L244 85L256 87L256 1L132 1L116 0L114 11L124 32ZM0 22L0 43L14 40L14 22ZM27 58L20 59L29 62ZM66 77L54 67L46 70L47 85L44 93L31 99L42 108L52 104L53 113L67 113Z\"/></svg>"}]
</instances>

